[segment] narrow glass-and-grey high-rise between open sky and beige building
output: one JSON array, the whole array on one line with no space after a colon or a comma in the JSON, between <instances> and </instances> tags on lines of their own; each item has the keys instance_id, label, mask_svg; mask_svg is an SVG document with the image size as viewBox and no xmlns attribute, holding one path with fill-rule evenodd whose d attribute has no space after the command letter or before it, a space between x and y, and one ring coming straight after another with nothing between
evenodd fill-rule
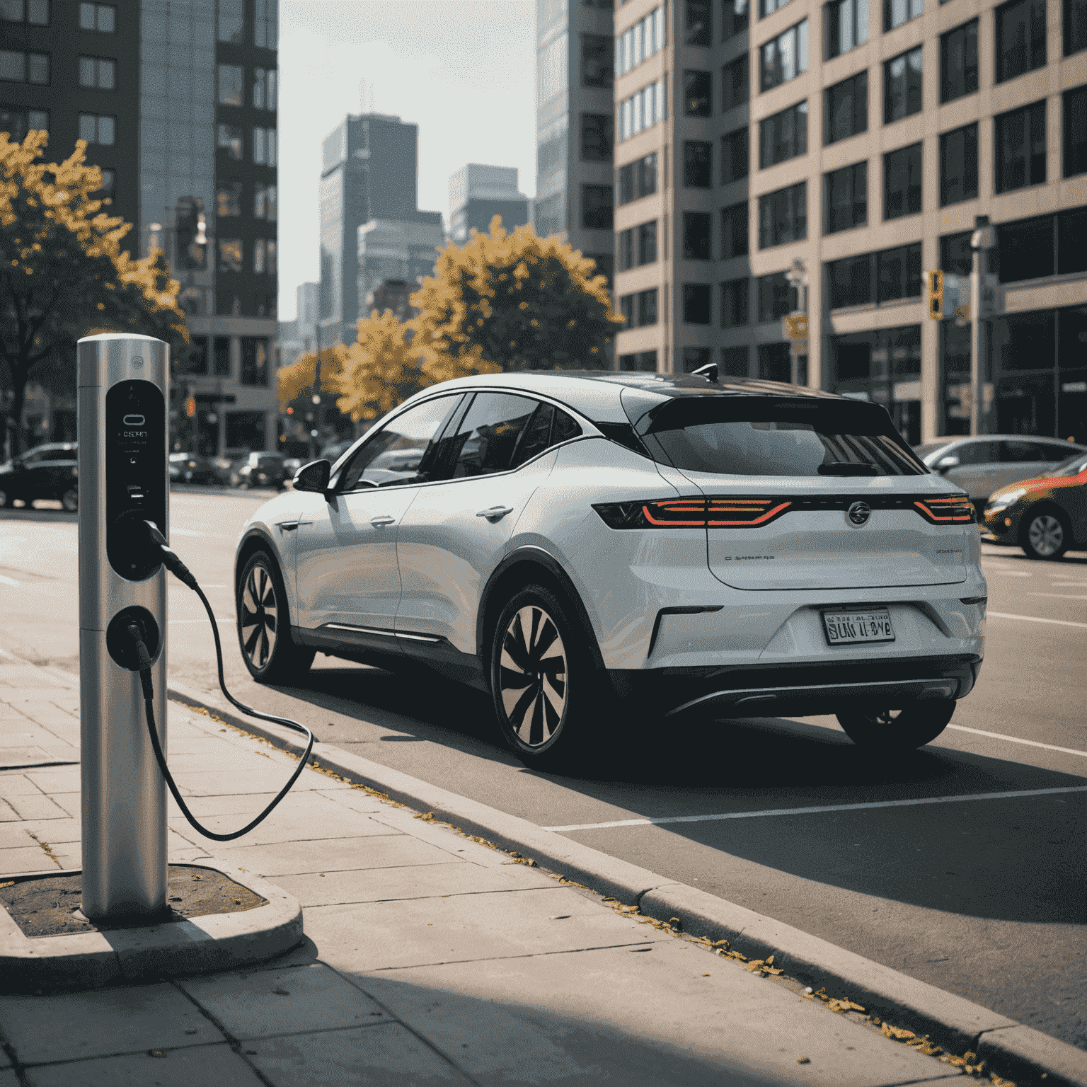
<instances>
[{"instance_id":1,"label":"narrow glass-and-grey high-rise between open sky and beige building","mask_svg":"<svg viewBox=\"0 0 1087 1087\"><path fill-rule=\"evenodd\" d=\"M533 223L540 237L558 235L591 257L609 283L614 265L613 7L613 0L536 0Z\"/></svg>"}]
</instances>

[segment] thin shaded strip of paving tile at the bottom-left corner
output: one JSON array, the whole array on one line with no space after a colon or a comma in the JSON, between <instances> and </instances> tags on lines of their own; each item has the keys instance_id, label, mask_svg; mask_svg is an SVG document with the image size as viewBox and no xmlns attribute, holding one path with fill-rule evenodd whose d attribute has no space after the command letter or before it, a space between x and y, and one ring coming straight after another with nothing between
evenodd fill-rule
<instances>
[{"instance_id":1,"label":"thin shaded strip of paving tile at the bottom-left corner","mask_svg":"<svg viewBox=\"0 0 1087 1087\"><path fill-rule=\"evenodd\" d=\"M162 1057L132 1053L34 1067L26 1072L26 1082L28 1087L259 1087L261 1083L226 1042L157 1052Z\"/></svg>"}]
</instances>

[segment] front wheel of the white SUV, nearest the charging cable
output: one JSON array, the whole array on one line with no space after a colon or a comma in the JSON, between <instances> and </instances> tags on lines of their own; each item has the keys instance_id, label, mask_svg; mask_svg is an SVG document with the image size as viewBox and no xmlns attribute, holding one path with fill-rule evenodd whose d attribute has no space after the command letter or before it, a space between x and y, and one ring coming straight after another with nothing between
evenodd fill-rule
<instances>
[{"instance_id":1,"label":"front wheel of the white SUV, nearest the charging cable","mask_svg":"<svg viewBox=\"0 0 1087 1087\"><path fill-rule=\"evenodd\" d=\"M265 551L250 555L237 584L238 647L258 683L292 684L305 675L316 650L290 636L287 590L275 560Z\"/></svg>"}]
</instances>

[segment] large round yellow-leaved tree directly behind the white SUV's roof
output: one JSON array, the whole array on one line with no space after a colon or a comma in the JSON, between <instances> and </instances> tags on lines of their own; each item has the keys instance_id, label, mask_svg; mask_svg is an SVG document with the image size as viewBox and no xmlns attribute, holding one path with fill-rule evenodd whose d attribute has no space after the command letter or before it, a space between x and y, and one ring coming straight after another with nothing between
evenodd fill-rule
<instances>
[{"instance_id":1,"label":"large round yellow-leaved tree directly behind the white SUV's roof","mask_svg":"<svg viewBox=\"0 0 1087 1087\"><path fill-rule=\"evenodd\" d=\"M410 324L426 384L474 373L591 370L622 324L596 262L532 226L439 250L433 277L412 295Z\"/></svg>"}]
</instances>

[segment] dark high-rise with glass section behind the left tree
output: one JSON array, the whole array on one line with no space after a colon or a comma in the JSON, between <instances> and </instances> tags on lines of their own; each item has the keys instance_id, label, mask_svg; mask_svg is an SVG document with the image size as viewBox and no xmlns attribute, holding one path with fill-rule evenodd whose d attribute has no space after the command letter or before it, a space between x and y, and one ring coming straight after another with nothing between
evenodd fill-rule
<instances>
[{"instance_id":1,"label":"dark high-rise with glass section behind the left tree","mask_svg":"<svg viewBox=\"0 0 1087 1087\"><path fill-rule=\"evenodd\" d=\"M276 0L3 0L0 130L87 140L110 211L182 283L171 442L276 441ZM195 398L188 417L184 401Z\"/></svg>"}]
</instances>

